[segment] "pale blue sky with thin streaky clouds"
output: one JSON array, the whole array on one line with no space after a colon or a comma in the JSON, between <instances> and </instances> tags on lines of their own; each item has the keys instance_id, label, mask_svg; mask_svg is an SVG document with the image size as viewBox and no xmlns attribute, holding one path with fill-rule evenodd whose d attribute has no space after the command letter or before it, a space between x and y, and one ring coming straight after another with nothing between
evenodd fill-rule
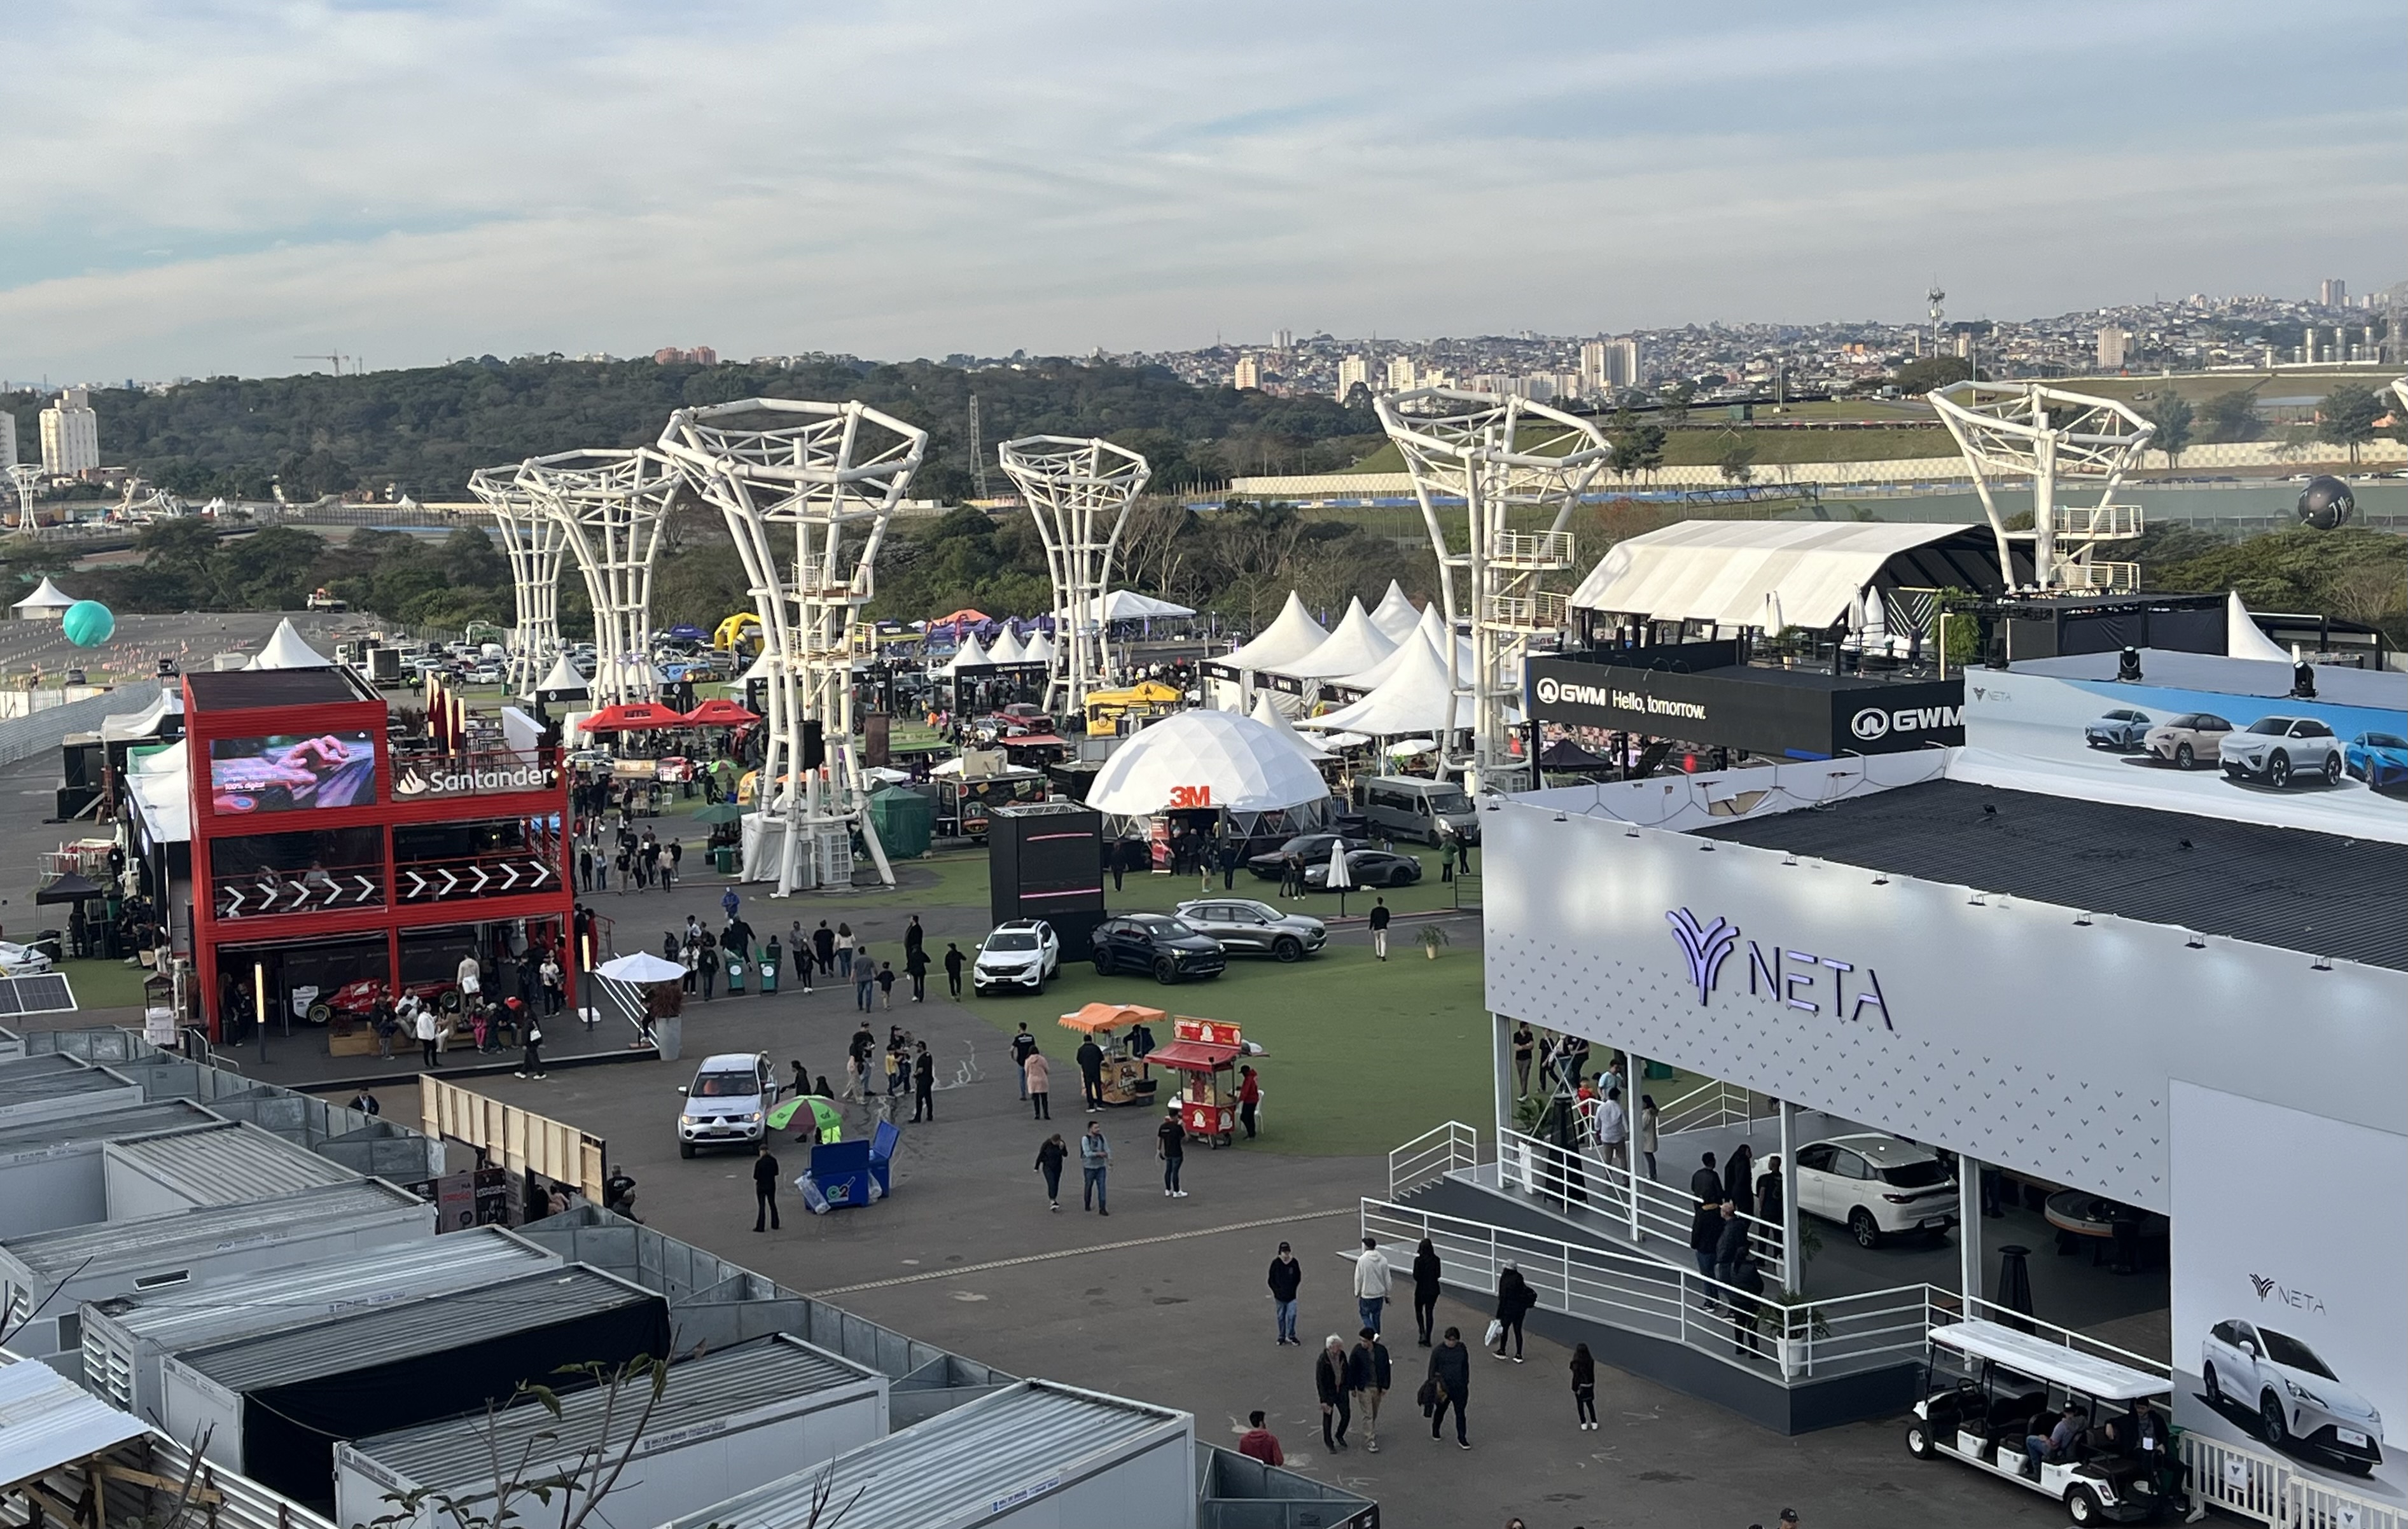
<instances>
[{"instance_id":1,"label":"pale blue sky with thin streaky clouds","mask_svg":"<svg viewBox=\"0 0 2408 1529\"><path fill-rule=\"evenodd\" d=\"M5 53L12 380L2408 277L2396 0L77 0Z\"/></svg>"}]
</instances>

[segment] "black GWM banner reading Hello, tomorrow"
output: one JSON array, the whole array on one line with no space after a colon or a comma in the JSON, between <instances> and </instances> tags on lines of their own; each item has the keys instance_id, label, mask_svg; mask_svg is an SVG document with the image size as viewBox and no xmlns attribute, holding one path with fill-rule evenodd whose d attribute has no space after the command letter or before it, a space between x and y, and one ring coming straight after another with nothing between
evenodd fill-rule
<instances>
[{"instance_id":1,"label":"black GWM banner reading Hello, tomorrow","mask_svg":"<svg viewBox=\"0 0 2408 1529\"><path fill-rule=\"evenodd\" d=\"M1529 715L1772 758L1907 754L1965 742L1965 681L1888 684L1792 669L1640 669L1531 657Z\"/></svg>"}]
</instances>

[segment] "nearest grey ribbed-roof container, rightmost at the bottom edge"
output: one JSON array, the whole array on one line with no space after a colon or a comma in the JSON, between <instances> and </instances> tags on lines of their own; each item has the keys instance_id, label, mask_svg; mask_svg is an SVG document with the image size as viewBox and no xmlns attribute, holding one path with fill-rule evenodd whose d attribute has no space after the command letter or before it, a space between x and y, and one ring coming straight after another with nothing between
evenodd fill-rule
<instances>
[{"instance_id":1,"label":"nearest grey ribbed-roof container, rightmost at the bottom edge","mask_svg":"<svg viewBox=\"0 0 2408 1529\"><path fill-rule=\"evenodd\" d=\"M1021 1380L667 1529L802 1529L814 1495L877 1529L1197 1529L1194 1418Z\"/></svg>"}]
</instances>

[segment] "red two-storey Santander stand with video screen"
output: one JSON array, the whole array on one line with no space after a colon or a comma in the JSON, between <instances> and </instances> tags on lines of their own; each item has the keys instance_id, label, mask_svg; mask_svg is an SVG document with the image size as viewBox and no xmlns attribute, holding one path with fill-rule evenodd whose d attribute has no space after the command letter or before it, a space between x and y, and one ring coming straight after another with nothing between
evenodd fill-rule
<instances>
[{"instance_id":1,"label":"red two-storey Santander stand with video screen","mask_svg":"<svg viewBox=\"0 0 2408 1529\"><path fill-rule=\"evenodd\" d=\"M214 1040L327 1023L376 1050L378 990L441 999L474 956L489 997L535 994L561 951L568 785L551 749L390 734L349 669L185 674L193 958Z\"/></svg>"}]
</instances>

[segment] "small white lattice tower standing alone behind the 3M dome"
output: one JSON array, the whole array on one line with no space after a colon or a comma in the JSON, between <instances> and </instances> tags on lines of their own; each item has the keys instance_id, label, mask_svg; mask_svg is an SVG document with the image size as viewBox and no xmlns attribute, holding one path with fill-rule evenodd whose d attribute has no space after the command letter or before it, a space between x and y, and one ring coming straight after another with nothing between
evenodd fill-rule
<instances>
[{"instance_id":1,"label":"small white lattice tower standing alone behind the 3M dome","mask_svg":"<svg viewBox=\"0 0 2408 1529\"><path fill-rule=\"evenodd\" d=\"M1125 445L1069 436L1004 441L997 455L1038 520L1055 585L1057 640L1045 710L1081 710L1110 669L1103 597L1112 585L1112 547L1153 467Z\"/></svg>"}]
</instances>

